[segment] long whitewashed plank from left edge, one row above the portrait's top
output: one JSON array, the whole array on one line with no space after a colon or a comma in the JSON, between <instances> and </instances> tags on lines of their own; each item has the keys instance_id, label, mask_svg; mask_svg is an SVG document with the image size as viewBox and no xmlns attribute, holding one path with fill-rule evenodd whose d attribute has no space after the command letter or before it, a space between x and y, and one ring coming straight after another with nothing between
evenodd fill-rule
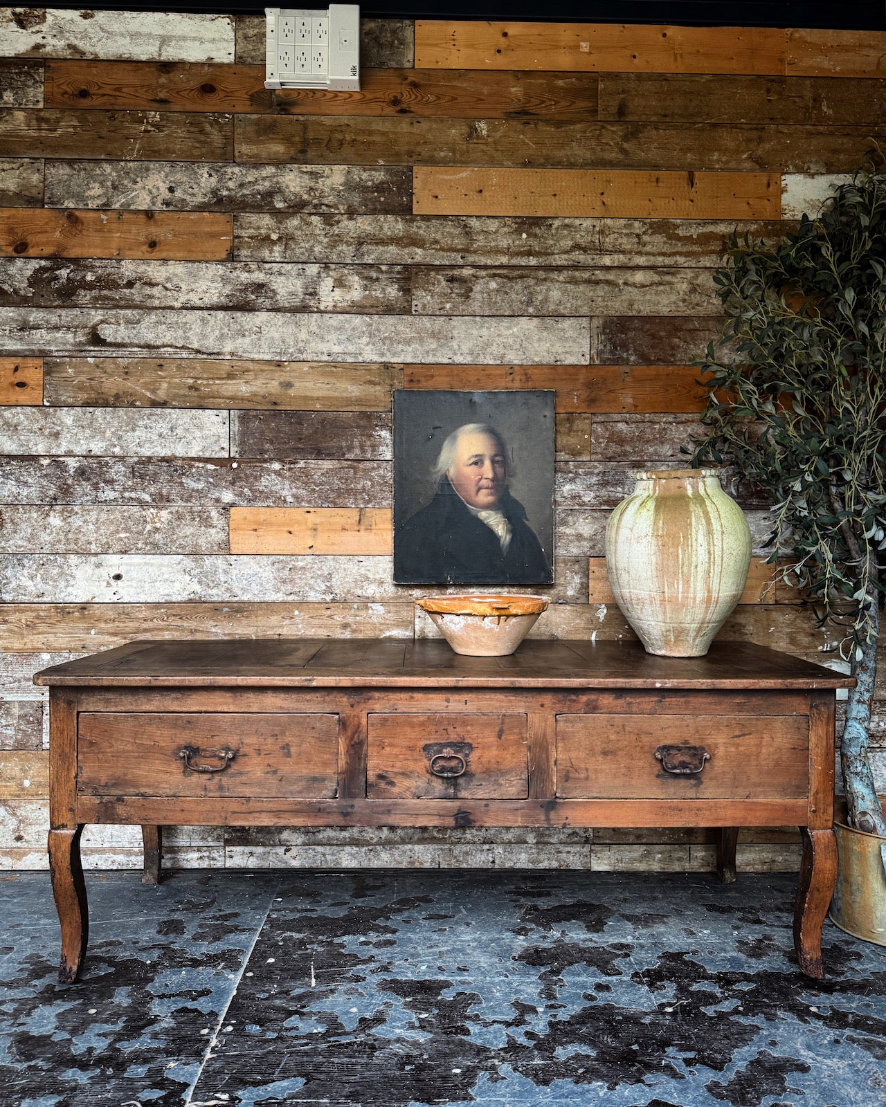
<instances>
[{"instance_id":1,"label":"long whitewashed plank from left edge, one row above the portrait's top","mask_svg":"<svg viewBox=\"0 0 886 1107\"><path fill-rule=\"evenodd\" d=\"M588 319L9 308L0 353L587 365Z\"/></svg>"}]
</instances>

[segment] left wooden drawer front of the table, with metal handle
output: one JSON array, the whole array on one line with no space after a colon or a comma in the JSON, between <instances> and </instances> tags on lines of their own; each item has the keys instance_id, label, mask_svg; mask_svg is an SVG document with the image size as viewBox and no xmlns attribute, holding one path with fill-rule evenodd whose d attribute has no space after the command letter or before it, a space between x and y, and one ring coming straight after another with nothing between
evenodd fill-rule
<instances>
[{"instance_id":1,"label":"left wooden drawer front of the table, with metal handle","mask_svg":"<svg viewBox=\"0 0 886 1107\"><path fill-rule=\"evenodd\" d=\"M338 715L83 713L78 792L331 799L338 734Z\"/></svg>"}]
</instances>

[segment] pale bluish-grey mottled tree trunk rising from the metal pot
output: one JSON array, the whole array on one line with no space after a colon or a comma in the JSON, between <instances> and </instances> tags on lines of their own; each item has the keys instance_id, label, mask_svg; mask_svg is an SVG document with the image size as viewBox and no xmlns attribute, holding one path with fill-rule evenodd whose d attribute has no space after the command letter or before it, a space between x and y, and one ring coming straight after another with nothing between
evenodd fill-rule
<instances>
[{"instance_id":1,"label":"pale bluish-grey mottled tree trunk rising from the metal pot","mask_svg":"<svg viewBox=\"0 0 886 1107\"><path fill-rule=\"evenodd\" d=\"M883 805L874 787L874 774L867 755L870 735L870 703L874 699L874 681L877 675L877 640L879 638L879 603L874 597L870 637L862 648L862 658L853 662L857 684L849 690L846 704L846 727L841 743L843 784L846 788L846 806L849 826L867 834L886 837L886 819Z\"/></svg>"}]
</instances>

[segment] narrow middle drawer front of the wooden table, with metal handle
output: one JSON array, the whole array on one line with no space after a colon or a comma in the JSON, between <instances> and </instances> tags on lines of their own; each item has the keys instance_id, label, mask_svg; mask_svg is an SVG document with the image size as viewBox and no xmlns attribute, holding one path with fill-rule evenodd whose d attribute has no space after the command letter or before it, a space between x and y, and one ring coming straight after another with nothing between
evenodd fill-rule
<instances>
[{"instance_id":1,"label":"narrow middle drawer front of the wooden table, with metal handle","mask_svg":"<svg viewBox=\"0 0 886 1107\"><path fill-rule=\"evenodd\" d=\"M525 799L525 715L370 715L370 799Z\"/></svg>"}]
</instances>

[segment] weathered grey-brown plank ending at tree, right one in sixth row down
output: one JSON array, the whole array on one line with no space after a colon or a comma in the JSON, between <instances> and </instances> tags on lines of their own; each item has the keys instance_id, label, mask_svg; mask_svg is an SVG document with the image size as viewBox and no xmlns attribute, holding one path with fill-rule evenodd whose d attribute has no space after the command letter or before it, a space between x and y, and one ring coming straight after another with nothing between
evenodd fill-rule
<instances>
[{"instance_id":1,"label":"weathered grey-brown plank ending at tree, right one in sixth row down","mask_svg":"<svg viewBox=\"0 0 886 1107\"><path fill-rule=\"evenodd\" d=\"M708 269L412 270L412 311L434 315L703 315L720 306Z\"/></svg>"}]
</instances>

